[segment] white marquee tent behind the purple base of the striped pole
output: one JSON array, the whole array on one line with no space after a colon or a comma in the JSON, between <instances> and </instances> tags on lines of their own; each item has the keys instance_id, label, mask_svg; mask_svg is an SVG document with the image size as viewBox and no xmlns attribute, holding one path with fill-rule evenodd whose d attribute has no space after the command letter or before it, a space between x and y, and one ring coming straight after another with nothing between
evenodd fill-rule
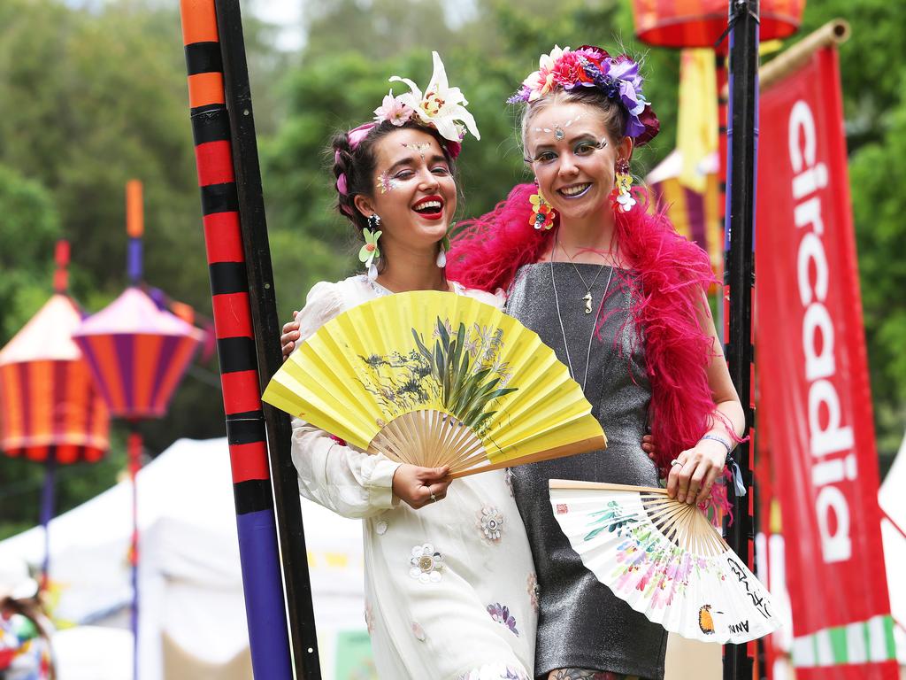
<instances>
[{"instance_id":1,"label":"white marquee tent behind the purple base of the striped pole","mask_svg":"<svg viewBox=\"0 0 906 680\"><path fill-rule=\"evenodd\" d=\"M248 634L226 439L178 440L140 471L138 488L142 680L181 677L171 667L191 663L245 668L240 657L247 657ZM130 484L122 481L51 522L56 618L128 627L130 508ZM350 656L369 663L361 522L306 500L303 517L323 676L333 678L338 657L343 666ZM0 542L2 554L39 565L42 530ZM200 673L195 676L207 677ZM129 676L127 668L123 677Z\"/></svg>"}]
</instances>

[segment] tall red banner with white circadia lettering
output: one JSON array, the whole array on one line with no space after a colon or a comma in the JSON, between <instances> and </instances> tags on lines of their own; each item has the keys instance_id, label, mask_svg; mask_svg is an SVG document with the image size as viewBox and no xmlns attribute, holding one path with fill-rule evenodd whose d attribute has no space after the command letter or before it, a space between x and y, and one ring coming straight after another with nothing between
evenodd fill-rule
<instances>
[{"instance_id":1,"label":"tall red banner with white circadia lettering","mask_svg":"<svg viewBox=\"0 0 906 680\"><path fill-rule=\"evenodd\" d=\"M898 677L837 55L761 95L759 428L786 546L796 677ZM763 526L766 521L763 520Z\"/></svg>"}]
</instances>

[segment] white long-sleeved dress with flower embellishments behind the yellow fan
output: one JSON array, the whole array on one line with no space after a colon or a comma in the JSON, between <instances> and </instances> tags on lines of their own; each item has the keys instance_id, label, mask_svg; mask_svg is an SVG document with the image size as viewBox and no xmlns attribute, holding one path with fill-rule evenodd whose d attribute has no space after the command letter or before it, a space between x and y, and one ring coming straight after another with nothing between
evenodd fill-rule
<instances>
[{"instance_id":1,"label":"white long-sleeved dress with flower embellishments behind the yellow fan","mask_svg":"<svg viewBox=\"0 0 906 680\"><path fill-rule=\"evenodd\" d=\"M315 285L298 316L302 338L389 294L364 276ZM364 521L365 620L381 678L533 677L535 568L506 471L455 480L446 499L412 510L392 495L399 463L343 446L299 419L293 461L304 497Z\"/></svg>"}]
</instances>

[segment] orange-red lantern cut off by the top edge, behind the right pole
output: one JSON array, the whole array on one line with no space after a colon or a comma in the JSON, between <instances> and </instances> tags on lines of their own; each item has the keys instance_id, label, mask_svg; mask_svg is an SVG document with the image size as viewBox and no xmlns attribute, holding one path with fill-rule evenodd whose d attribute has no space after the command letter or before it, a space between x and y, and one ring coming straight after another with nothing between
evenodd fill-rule
<instances>
[{"instance_id":1,"label":"orange-red lantern cut off by the top edge, behind the right pole","mask_svg":"<svg viewBox=\"0 0 906 680\"><path fill-rule=\"evenodd\" d=\"M761 0L762 41L799 28L805 0ZM660 47L714 47L727 29L727 0L632 0L635 34ZM727 43L725 42L724 45ZM726 47L725 47L726 49Z\"/></svg>"}]
</instances>

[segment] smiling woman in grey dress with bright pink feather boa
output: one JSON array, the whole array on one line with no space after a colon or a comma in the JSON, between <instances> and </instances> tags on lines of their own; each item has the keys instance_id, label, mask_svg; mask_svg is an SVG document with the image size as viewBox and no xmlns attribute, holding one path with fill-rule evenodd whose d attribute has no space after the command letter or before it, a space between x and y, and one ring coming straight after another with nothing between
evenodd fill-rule
<instances>
[{"instance_id":1,"label":"smiling woman in grey dress with bright pink feather boa","mask_svg":"<svg viewBox=\"0 0 906 680\"><path fill-rule=\"evenodd\" d=\"M507 291L583 386L602 452L512 471L540 588L539 678L661 678L667 635L583 567L547 502L551 478L642 486L726 510L725 461L744 413L705 296L708 256L631 189L635 146L657 134L639 66L599 47L554 48L510 102L535 184L461 223L448 277ZM652 461L639 442L651 432Z\"/></svg>"}]
</instances>

